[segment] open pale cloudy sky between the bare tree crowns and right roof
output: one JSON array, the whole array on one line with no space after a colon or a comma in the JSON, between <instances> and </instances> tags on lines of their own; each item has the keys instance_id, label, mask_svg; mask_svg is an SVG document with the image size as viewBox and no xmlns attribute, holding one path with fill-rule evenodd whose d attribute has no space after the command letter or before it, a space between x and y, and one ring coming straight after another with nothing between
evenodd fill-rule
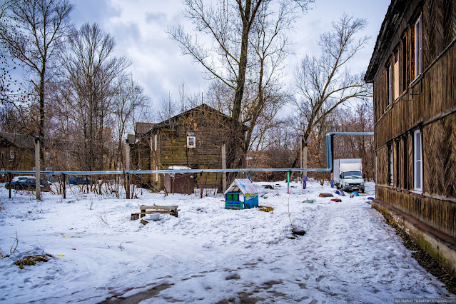
<instances>
[{"instance_id":1,"label":"open pale cloudy sky between the bare tree crowns and right roof","mask_svg":"<svg viewBox=\"0 0 456 304\"><path fill-rule=\"evenodd\" d=\"M188 24L183 16L181 0L77 0L72 19L76 26L84 22L96 22L115 37L116 55L127 56L133 78L146 88L154 106L171 93L178 96L178 87L185 81L188 93L204 91L207 81L202 69L190 56L182 56L178 43L169 38L166 29L178 24ZM370 55L380 25L385 17L389 0L316 0L313 9L303 15L290 33L294 55L288 58L284 78L290 83L293 67L303 54L317 54L318 37L328 31L331 22L344 12L368 20L365 35L369 44L353 61L351 69L363 72L367 69Z\"/></svg>"}]
</instances>

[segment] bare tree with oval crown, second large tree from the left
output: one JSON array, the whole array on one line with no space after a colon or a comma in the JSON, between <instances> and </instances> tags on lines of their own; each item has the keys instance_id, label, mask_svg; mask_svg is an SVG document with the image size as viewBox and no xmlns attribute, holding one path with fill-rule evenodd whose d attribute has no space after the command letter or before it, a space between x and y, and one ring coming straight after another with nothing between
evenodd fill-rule
<instances>
[{"instance_id":1,"label":"bare tree with oval crown, second large tree from the left","mask_svg":"<svg viewBox=\"0 0 456 304\"><path fill-rule=\"evenodd\" d=\"M62 83L73 105L70 115L83 132L86 170L101 168L103 138L108 132L105 119L113 113L113 97L121 82L116 81L129 66L125 57L113 56L116 41L97 24L83 24L72 31L62 52Z\"/></svg>"}]
</instances>

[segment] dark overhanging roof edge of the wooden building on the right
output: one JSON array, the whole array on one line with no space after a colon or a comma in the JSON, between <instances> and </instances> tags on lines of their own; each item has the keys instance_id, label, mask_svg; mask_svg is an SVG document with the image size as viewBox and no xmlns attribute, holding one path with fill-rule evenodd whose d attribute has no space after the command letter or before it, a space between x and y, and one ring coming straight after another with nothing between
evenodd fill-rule
<instances>
[{"instance_id":1,"label":"dark overhanging roof edge of the wooden building on the right","mask_svg":"<svg viewBox=\"0 0 456 304\"><path fill-rule=\"evenodd\" d=\"M405 14L409 4L410 0L392 0L390 6L388 6L385 19L383 19L377 41L375 42L368 70L364 76L365 82L372 83L374 81L375 75L382 64L383 57L390 47L392 37L396 34L402 16Z\"/></svg>"}]
</instances>

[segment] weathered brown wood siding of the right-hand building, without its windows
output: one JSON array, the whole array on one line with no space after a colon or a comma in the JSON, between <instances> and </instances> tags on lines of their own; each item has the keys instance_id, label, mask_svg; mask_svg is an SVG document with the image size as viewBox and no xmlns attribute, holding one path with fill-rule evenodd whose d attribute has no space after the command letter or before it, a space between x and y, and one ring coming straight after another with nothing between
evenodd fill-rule
<instances>
[{"instance_id":1,"label":"weathered brown wood siding of the right-hand building, without its windows","mask_svg":"<svg viewBox=\"0 0 456 304\"><path fill-rule=\"evenodd\" d=\"M456 238L456 1L407 4L374 79L376 196ZM413 80L410 50L417 16L422 22L422 74ZM400 93L388 105L386 67L395 51L401 67ZM417 129L422 132L422 193L413 191ZM388 145L393 147L392 185L387 176Z\"/></svg>"}]
</instances>

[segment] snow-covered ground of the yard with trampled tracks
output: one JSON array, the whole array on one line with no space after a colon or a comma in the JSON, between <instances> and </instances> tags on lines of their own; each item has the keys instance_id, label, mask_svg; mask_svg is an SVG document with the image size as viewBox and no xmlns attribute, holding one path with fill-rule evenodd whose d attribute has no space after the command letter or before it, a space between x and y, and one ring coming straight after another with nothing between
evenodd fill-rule
<instances>
[{"instance_id":1,"label":"snow-covered ground of the yard with trampled tracks","mask_svg":"<svg viewBox=\"0 0 456 304\"><path fill-rule=\"evenodd\" d=\"M9 200L0 184L0 248L9 253L16 233L19 240L0 259L0 302L392 303L448 295L370 208L373 183L365 196L338 196L341 203L319 198L335 189L315 182L304 191L291 183L291 195L284 182L256 185L260 206L274 211L230 211L223 196L146 190L133 200L46 193L37 203L24 191ZM152 203L178 205L179 217L130 221ZM293 238L290 221L307 233ZM48 263L14 265L43 250L54 256Z\"/></svg>"}]
</instances>

